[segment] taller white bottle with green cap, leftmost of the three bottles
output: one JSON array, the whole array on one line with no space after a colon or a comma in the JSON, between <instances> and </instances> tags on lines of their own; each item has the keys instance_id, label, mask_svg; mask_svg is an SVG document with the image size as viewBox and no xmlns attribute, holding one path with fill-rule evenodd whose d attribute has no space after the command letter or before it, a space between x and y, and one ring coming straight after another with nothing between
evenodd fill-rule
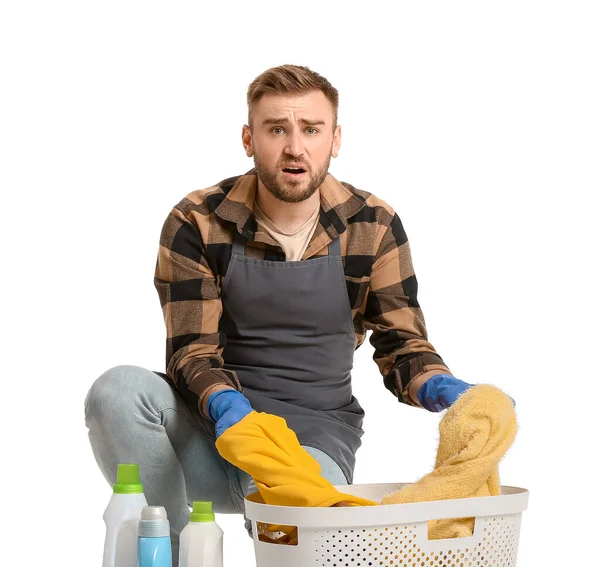
<instances>
[{"instance_id":1,"label":"taller white bottle with green cap, leftmost of the three bottles","mask_svg":"<svg viewBox=\"0 0 600 567\"><path fill-rule=\"evenodd\" d=\"M106 539L102 567L137 567L138 523L147 505L138 465L118 465L117 483L103 516Z\"/></svg>"}]
</instances>

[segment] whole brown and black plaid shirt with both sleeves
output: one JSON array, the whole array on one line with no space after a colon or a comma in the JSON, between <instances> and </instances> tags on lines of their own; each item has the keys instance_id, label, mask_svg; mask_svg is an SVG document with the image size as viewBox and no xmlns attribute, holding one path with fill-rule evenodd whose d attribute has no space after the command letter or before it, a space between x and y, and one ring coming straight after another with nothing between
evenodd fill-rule
<instances>
[{"instance_id":1,"label":"whole brown and black plaid shirt with both sleeves","mask_svg":"<svg viewBox=\"0 0 600 567\"><path fill-rule=\"evenodd\" d=\"M252 214L257 185L252 169L190 193L170 212L160 236L154 285L167 328L166 373L182 394L199 401L216 384L241 390L235 373L223 368L227 338L219 332L233 231L248 239L247 256L285 261ZM419 405L418 387L450 371L427 340L400 218L381 199L331 174L320 196L319 224L302 259L326 255L340 237L356 346L371 330L385 386L399 401Z\"/></svg>"}]
</instances>

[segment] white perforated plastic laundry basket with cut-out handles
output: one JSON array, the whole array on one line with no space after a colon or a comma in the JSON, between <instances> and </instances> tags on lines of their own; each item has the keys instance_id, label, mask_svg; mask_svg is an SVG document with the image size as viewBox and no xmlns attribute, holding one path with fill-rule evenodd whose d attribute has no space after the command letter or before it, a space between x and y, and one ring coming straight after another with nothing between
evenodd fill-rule
<instances>
[{"instance_id":1,"label":"white perforated plastic laundry basket with cut-out handles","mask_svg":"<svg viewBox=\"0 0 600 567\"><path fill-rule=\"evenodd\" d=\"M381 502L384 494L403 486L336 488ZM245 500L257 567L515 567L529 492L503 486L500 496L343 508L270 506L254 501L258 496ZM472 536L429 539L429 520L473 517ZM260 541L261 524L296 526L297 545Z\"/></svg>"}]
</instances>

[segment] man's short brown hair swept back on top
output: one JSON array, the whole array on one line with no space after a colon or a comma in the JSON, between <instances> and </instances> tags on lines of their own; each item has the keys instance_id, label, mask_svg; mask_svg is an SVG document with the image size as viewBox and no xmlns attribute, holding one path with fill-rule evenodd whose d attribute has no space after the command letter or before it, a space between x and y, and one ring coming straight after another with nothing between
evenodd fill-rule
<instances>
[{"instance_id":1,"label":"man's short brown hair swept back on top","mask_svg":"<svg viewBox=\"0 0 600 567\"><path fill-rule=\"evenodd\" d=\"M333 106L333 127L337 125L339 94L325 78L300 65L280 65L261 73L248 87L248 125L252 128L252 110L260 98L271 94L305 94L319 90Z\"/></svg>"}]
</instances>

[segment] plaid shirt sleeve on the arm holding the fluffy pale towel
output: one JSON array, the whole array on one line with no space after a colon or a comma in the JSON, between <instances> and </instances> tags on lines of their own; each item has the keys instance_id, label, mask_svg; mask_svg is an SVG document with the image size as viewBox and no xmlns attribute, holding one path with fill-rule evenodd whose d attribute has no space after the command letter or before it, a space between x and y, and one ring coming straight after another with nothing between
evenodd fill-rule
<instances>
[{"instance_id":1,"label":"plaid shirt sleeve on the arm holding the fluffy pale towel","mask_svg":"<svg viewBox=\"0 0 600 567\"><path fill-rule=\"evenodd\" d=\"M420 406L419 387L435 374L450 374L427 340L410 247L396 213L373 261L365 328L372 330L369 340L375 347L373 359L384 384L399 401Z\"/></svg>"}]
</instances>

